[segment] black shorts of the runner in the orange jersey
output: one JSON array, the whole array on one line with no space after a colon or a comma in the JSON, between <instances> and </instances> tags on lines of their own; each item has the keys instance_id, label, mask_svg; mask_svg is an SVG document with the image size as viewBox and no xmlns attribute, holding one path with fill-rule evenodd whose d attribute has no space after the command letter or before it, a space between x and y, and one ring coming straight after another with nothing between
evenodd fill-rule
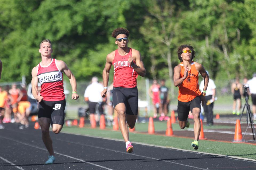
<instances>
[{"instance_id":1,"label":"black shorts of the runner in the orange jersey","mask_svg":"<svg viewBox=\"0 0 256 170\"><path fill-rule=\"evenodd\" d=\"M189 101L189 102L182 102L178 100L178 119L179 121L185 121L187 120L187 117L189 116L189 110L192 113L192 110L194 108L201 109L201 98L200 96L195 97L195 99Z\"/></svg>"}]
</instances>

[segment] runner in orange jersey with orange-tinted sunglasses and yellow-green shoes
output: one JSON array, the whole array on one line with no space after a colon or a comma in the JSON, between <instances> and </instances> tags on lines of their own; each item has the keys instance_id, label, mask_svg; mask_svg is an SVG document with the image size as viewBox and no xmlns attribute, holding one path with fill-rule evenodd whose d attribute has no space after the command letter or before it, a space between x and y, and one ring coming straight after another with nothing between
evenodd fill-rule
<instances>
[{"instance_id":1,"label":"runner in orange jersey with orange-tinted sunglasses and yellow-green shoes","mask_svg":"<svg viewBox=\"0 0 256 170\"><path fill-rule=\"evenodd\" d=\"M200 112L201 105L205 104L205 94L209 82L209 76L202 64L194 62L195 51L190 45L181 45L178 48L178 58L181 63L174 67L173 82L174 86L179 86L178 95L178 119L181 129L189 127L187 120L189 111L194 116L194 135L195 139L191 143L194 149L198 149L198 139L201 130ZM204 79L203 93L199 91L198 74Z\"/></svg>"}]
</instances>

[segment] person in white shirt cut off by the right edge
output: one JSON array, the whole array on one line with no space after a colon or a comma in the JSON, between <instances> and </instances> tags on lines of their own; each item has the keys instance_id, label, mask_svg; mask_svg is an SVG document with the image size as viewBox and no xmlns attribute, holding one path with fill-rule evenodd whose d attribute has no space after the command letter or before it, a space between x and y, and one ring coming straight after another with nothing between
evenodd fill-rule
<instances>
[{"instance_id":1,"label":"person in white shirt cut off by the right edge","mask_svg":"<svg viewBox=\"0 0 256 170\"><path fill-rule=\"evenodd\" d=\"M253 74L253 78L248 80L249 95L251 95L251 101L253 103L253 120L256 120L256 73Z\"/></svg>"}]
</instances>

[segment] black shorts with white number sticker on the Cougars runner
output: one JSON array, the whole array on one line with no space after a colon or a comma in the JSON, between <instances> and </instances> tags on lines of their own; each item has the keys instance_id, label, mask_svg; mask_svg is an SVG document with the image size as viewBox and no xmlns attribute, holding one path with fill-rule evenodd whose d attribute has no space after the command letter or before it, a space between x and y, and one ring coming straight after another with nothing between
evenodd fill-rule
<instances>
[{"instance_id":1,"label":"black shorts with white number sticker on the Cougars runner","mask_svg":"<svg viewBox=\"0 0 256 170\"><path fill-rule=\"evenodd\" d=\"M42 100L38 105L38 118L47 117L51 119L51 124L64 124L64 110L66 100L45 101Z\"/></svg>"}]
</instances>

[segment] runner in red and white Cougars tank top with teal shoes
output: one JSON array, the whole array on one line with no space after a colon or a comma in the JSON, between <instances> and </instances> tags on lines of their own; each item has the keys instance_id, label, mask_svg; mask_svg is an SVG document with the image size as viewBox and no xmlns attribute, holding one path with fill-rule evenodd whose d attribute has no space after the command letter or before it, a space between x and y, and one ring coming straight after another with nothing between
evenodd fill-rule
<instances>
[{"instance_id":1,"label":"runner in red and white Cougars tank top with teal shoes","mask_svg":"<svg viewBox=\"0 0 256 170\"><path fill-rule=\"evenodd\" d=\"M72 87L72 99L78 99L77 84L74 75L66 63L51 57L53 52L51 41L43 40L39 45L42 61L32 70L32 94L39 102L38 121L42 130L42 139L50 156L45 162L52 164L55 161L52 140L49 134L50 125L55 134L58 134L64 124L64 110L66 106L63 72L69 78ZM41 84L40 95L38 94L38 80Z\"/></svg>"}]
</instances>

